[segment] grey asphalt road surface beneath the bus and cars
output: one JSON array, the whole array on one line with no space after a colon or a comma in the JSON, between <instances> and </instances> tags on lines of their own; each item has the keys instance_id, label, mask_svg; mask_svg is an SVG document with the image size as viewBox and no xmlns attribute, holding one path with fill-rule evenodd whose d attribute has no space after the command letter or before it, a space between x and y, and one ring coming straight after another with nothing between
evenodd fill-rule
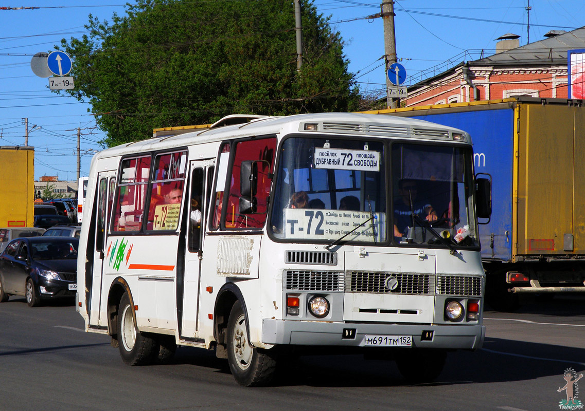
<instances>
[{"instance_id":1,"label":"grey asphalt road surface beneath the bus and cars","mask_svg":"<svg viewBox=\"0 0 585 411\"><path fill-rule=\"evenodd\" d=\"M449 353L432 384L406 384L388 361L307 356L273 386L243 388L225 360L191 347L170 364L128 367L68 302L29 308L11 297L0 304L0 410L559 409L565 369L585 371L584 308L584 297L558 296L486 311L483 349ZM577 384L585 404L585 379Z\"/></svg>"}]
</instances>

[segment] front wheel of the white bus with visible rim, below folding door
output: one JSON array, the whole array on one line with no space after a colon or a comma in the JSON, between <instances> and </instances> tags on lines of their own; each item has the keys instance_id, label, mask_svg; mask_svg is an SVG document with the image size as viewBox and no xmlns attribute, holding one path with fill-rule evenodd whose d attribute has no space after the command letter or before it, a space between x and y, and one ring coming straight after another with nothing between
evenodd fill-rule
<instances>
[{"instance_id":1,"label":"front wheel of the white bus with visible rim, below folding door","mask_svg":"<svg viewBox=\"0 0 585 411\"><path fill-rule=\"evenodd\" d=\"M233 378L243 386L266 385L274 377L276 360L266 350L248 341L248 328L242 304L236 301L229 313L228 364Z\"/></svg>"}]
</instances>

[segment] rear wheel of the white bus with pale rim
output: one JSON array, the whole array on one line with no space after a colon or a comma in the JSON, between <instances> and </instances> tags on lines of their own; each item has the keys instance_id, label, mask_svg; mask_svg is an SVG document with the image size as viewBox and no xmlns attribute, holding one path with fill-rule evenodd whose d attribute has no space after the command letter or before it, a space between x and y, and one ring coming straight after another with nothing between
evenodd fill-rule
<instances>
[{"instance_id":1,"label":"rear wheel of the white bus with pale rim","mask_svg":"<svg viewBox=\"0 0 585 411\"><path fill-rule=\"evenodd\" d=\"M141 333L134 323L128 292L122 295L118 306L118 348L127 365L144 365L152 362L156 341Z\"/></svg>"}]
</instances>

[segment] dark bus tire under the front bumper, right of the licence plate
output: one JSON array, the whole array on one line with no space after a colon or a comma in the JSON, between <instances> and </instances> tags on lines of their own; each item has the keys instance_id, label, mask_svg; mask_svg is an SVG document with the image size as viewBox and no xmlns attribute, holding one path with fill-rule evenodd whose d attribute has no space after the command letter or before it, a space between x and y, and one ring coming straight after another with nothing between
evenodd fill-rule
<instances>
[{"instance_id":1,"label":"dark bus tire under the front bumper, right of the licence plate","mask_svg":"<svg viewBox=\"0 0 585 411\"><path fill-rule=\"evenodd\" d=\"M433 349L408 349L408 353L396 358L398 371L408 382L435 381L445 367L447 351Z\"/></svg>"}]
</instances>

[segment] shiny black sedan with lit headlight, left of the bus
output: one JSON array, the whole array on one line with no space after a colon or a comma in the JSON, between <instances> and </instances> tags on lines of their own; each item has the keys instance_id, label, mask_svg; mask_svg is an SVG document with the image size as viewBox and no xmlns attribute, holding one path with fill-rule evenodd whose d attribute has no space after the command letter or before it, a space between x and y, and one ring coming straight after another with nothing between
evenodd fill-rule
<instances>
[{"instance_id":1,"label":"shiny black sedan with lit headlight, left of the bus","mask_svg":"<svg viewBox=\"0 0 585 411\"><path fill-rule=\"evenodd\" d=\"M74 297L77 248L73 237L27 237L8 243L0 255L0 302L23 295L29 306L41 299Z\"/></svg>"}]
</instances>

